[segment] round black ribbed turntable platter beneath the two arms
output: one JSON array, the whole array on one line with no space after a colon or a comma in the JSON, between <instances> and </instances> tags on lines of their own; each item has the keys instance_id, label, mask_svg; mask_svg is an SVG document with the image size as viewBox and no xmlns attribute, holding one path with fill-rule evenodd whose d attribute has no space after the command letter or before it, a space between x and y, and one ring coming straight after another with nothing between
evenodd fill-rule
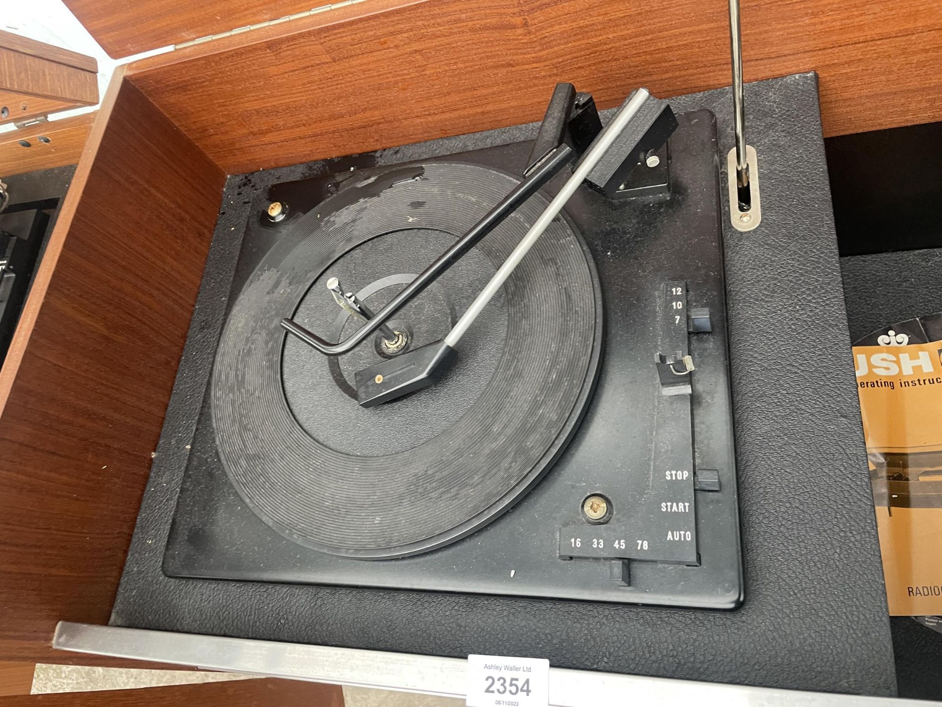
<instances>
[{"instance_id":1,"label":"round black ribbed turntable platter beneath the two arms","mask_svg":"<svg viewBox=\"0 0 942 707\"><path fill-rule=\"evenodd\" d=\"M560 454L602 326L592 256L566 219L475 322L447 380L406 399L355 403L353 374L382 360L377 342L326 357L279 326L292 314L348 336L359 322L334 304L329 277L379 309L517 183L448 162L357 182L292 224L252 273L219 343L212 410L223 466L272 528L338 555L429 551L505 511ZM547 204L529 199L397 315L411 346L447 335Z\"/></svg>"}]
</instances>

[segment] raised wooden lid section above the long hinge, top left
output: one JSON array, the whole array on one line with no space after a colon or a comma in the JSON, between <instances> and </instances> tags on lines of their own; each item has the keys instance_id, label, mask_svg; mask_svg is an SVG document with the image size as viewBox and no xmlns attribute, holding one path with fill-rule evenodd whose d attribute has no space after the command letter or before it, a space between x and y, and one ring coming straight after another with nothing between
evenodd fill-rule
<instances>
[{"instance_id":1,"label":"raised wooden lid section above the long hinge, top left","mask_svg":"<svg viewBox=\"0 0 942 707\"><path fill-rule=\"evenodd\" d=\"M329 0L64 0L112 58L306 12ZM336 3L334 3L335 5Z\"/></svg>"}]
</instances>

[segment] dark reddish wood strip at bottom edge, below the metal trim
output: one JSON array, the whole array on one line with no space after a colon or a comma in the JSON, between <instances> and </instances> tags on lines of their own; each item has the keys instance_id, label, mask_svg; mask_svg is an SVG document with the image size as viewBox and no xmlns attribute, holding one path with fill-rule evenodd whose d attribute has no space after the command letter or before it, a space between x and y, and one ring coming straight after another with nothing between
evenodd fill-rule
<instances>
[{"instance_id":1,"label":"dark reddish wood strip at bottom edge, below the metal trim","mask_svg":"<svg viewBox=\"0 0 942 707\"><path fill-rule=\"evenodd\" d=\"M341 688L298 680L240 680L143 687L128 690L61 692L0 698L0 707L344 707Z\"/></svg>"}]
</instances>

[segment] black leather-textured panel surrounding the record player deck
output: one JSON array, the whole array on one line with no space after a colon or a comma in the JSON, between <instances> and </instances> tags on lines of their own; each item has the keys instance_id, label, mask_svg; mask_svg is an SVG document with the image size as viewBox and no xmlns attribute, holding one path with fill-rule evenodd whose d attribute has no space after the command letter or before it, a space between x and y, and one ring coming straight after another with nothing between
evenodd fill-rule
<instances>
[{"instance_id":1,"label":"black leather-textured panel surrounding the record player deck","mask_svg":"<svg viewBox=\"0 0 942 707\"><path fill-rule=\"evenodd\" d=\"M728 90L671 103L678 113L712 109L723 150L732 146ZM746 106L763 221L749 234L732 231L728 215L724 222L746 577L741 609L237 584L161 573L243 224L268 185L315 173L301 165L227 184L112 624L447 656L531 655L560 667L893 694L817 77L749 84ZM526 140L535 132L524 125L435 140L388 150L382 161Z\"/></svg>"}]
</instances>

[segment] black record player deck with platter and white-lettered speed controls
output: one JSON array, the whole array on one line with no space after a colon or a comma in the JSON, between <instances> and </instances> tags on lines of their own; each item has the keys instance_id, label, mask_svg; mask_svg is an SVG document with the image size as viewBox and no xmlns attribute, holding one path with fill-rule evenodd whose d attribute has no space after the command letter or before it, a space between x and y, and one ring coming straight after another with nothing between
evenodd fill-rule
<instances>
[{"instance_id":1,"label":"black record player deck with platter and white-lettered speed controls","mask_svg":"<svg viewBox=\"0 0 942 707\"><path fill-rule=\"evenodd\" d=\"M657 102L508 269L554 149L601 139L567 90L535 141L328 160L253 206L166 574L739 605L715 120Z\"/></svg>"}]
</instances>

